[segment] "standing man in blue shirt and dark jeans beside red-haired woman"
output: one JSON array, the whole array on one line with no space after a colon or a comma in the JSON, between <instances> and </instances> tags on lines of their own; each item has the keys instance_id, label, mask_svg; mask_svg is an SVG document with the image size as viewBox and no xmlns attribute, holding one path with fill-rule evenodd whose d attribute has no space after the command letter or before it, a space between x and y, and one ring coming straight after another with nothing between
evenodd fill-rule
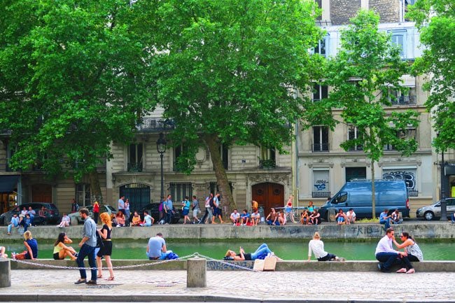
<instances>
[{"instance_id":1,"label":"standing man in blue shirt and dark jeans beside red-haired woman","mask_svg":"<svg viewBox=\"0 0 455 303\"><path fill-rule=\"evenodd\" d=\"M97 246L97 225L94 223L94 220L88 216L87 209L80 209L80 218L84 220L84 228L82 233L82 240L80 240L79 247L80 251L76 262L80 272L80 279L74 282L74 284L86 283L87 285L97 285L97 265L94 262L94 248ZM90 270L92 272L92 279L87 282L87 274L85 269L82 269L84 266L84 259L88 257L88 265L90 265Z\"/></svg>"}]
</instances>

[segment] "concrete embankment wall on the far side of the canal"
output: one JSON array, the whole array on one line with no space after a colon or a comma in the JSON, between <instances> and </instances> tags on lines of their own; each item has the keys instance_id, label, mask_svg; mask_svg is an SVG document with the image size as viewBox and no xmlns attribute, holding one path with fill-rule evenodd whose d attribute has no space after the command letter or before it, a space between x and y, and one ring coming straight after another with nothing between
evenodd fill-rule
<instances>
[{"instance_id":1,"label":"concrete embankment wall on the far side of the canal","mask_svg":"<svg viewBox=\"0 0 455 303\"><path fill-rule=\"evenodd\" d=\"M393 225L395 233L409 232L416 239L455 239L455 225L450 223L403 223ZM73 239L80 239L83 225L59 228L56 226L31 227L36 239L57 238L59 232L66 232ZM311 239L314 232L319 232L324 239L379 239L384 236L384 225L286 225L286 226L232 226L232 225L153 225L152 227L114 227L113 239L148 239L161 232L166 239ZM1 241L22 239L18 229L13 229L10 236L6 227L0 227Z\"/></svg>"}]
</instances>

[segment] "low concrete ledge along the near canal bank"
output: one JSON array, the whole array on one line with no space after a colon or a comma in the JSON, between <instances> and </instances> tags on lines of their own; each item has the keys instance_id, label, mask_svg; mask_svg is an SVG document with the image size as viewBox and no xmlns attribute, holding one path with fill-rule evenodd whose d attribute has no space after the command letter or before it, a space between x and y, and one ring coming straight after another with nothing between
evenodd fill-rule
<instances>
[{"instance_id":1,"label":"low concrete ledge along the near canal bank","mask_svg":"<svg viewBox=\"0 0 455 303\"><path fill-rule=\"evenodd\" d=\"M38 259L27 260L28 263L11 261L11 269L61 269L59 267L76 267L71 260ZM158 263L158 264L155 264ZM112 260L114 267L127 267L127 270L186 270L186 260L172 260L160 263L151 260ZM154 265L155 264L155 265ZM230 266L237 265L238 267ZM317 262L317 261L279 261L276 262L276 271L279 272L377 272L377 261L346 261L346 262ZM54 265L57 267L43 267ZM412 262L417 272L455 272L455 261L424 261ZM88 267L87 262L85 266ZM253 269L253 261L207 261L207 270L244 270L239 267ZM398 268L397 268L398 269ZM119 270L119 269L116 269Z\"/></svg>"}]
</instances>

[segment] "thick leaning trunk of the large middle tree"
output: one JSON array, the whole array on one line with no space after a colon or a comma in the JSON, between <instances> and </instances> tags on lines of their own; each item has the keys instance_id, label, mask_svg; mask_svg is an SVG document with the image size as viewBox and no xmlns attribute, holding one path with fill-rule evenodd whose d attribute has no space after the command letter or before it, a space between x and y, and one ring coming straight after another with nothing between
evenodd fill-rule
<instances>
[{"instance_id":1,"label":"thick leaning trunk of the large middle tree","mask_svg":"<svg viewBox=\"0 0 455 303\"><path fill-rule=\"evenodd\" d=\"M216 135L204 136L204 141L209 147L211 162L214 164L216 183L218 183L218 188L221 193L221 206L229 206L228 212L232 211L232 209L237 209L237 204L232 198L232 192L229 186L228 176L226 175L223 165L223 160L221 160L220 141L218 141Z\"/></svg>"}]
</instances>

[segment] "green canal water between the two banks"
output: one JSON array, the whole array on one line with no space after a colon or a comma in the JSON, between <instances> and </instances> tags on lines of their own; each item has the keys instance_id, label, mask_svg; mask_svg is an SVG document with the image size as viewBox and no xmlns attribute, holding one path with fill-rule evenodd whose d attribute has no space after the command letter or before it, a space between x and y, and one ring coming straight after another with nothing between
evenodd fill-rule
<instances>
[{"instance_id":1,"label":"green canal water between the two banks","mask_svg":"<svg viewBox=\"0 0 455 303\"><path fill-rule=\"evenodd\" d=\"M379 239L378 239L379 240ZM378 240L374 241L328 241L325 240L325 251L333 253L346 260L374 260L374 249ZM78 241L74 241L73 248L78 251ZM266 241L275 255L284 260L307 260L308 241L289 240L289 241ZM419 246L423 252L424 260L455 260L455 241L419 241ZM261 240L248 241L167 241L167 249L183 257L193 253L200 253L211 258L221 259L226 251L232 249L239 251L242 246L247 253L255 251L262 244ZM22 242L3 242L1 246L6 247L6 252L10 254L15 251L23 251ZM147 241L113 241L113 259L146 259ZM52 258L53 243L39 241L38 258ZM311 256L314 260L314 256Z\"/></svg>"}]
</instances>

